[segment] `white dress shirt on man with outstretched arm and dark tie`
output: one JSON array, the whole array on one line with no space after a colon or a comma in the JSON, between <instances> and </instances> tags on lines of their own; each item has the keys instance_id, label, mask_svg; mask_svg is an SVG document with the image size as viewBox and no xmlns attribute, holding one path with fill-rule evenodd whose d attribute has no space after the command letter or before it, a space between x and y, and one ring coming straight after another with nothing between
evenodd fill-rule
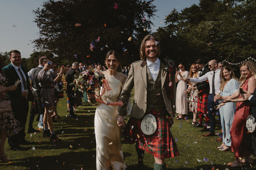
<instances>
[{"instance_id":1,"label":"white dress shirt on man with outstretched arm and dark tie","mask_svg":"<svg viewBox=\"0 0 256 170\"><path fill-rule=\"evenodd\" d=\"M205 75L203 75L202 77L190 78L190 82L200 83L200 82L204 82L204 81L208 80L209 84L210 84L210 94L212 94L213 72L214 71L209 71ZM219 79L220 72L221 72L221 70L219 68L217 70L215 70L215 77L214 77L214 91L215 91L215 94L217 94L218 92L221 92L219 90L219 87L221 86L221 80Z\"/></svg>"}]
</instances>

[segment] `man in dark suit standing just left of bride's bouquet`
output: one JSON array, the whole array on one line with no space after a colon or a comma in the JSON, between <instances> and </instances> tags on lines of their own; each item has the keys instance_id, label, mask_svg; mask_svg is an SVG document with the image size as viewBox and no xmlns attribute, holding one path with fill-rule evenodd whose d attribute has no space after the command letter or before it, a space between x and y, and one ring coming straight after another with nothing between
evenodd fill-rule
<instances>
[{"instance_id":1,"label":"man in dark suit standing just left of bride's bouquet","mask_svg":"<svg viewBox=\"0 0 256 170\"><path fill-rule=\"evenodd\" d=\"M76 117L74 114L74 107L76 103L75 91L73 90L74 86L71 86L70 83L73 83L75 80L76 70L78 70L79 64L78 62L74 62L72 64L72 68L68 70L66 75L67 82L67 94L68 94L68 102L69 102L69 117Z\"/></svg>"}]
</instances>

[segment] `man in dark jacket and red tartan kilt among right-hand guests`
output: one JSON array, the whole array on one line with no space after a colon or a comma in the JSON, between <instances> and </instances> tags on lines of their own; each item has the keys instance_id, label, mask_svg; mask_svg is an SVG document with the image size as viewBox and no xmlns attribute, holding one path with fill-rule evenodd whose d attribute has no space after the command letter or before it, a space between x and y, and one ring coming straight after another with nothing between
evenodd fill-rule
<instances>
[{"instance_id":1,"label":"man in dark jacket and red tartan kilt among right-hand guests","mask_svg":"<svg viewBox=\"0 0 256 170\"><path fill-rule=\"evenodd\" d=\"M196 67L200 71L199 77L202 77L208 71L210 71L210 69L207 68L203 64L203 61L201 59L197 59L195 61L195 64L196 64ZM209 124L209 118L207 116L207 101L208 101L208 95L209 95L209 91L210 91L209 83L207 81L197 83L196 87L191 88L191 90L195 90L195 89L197 89L199 91L199 94L198 94L199 98L197 100L197 112L199 112L199 122L198 122L198 124L196 124L195 126L192 126L192 127L204 127L204 129L200 130L201 132L209 131L207 129L207 125ZM206 126L203 126L204 115L205 115L205 122L206 122L205 125Z\"/></svg>"}]
</instances>

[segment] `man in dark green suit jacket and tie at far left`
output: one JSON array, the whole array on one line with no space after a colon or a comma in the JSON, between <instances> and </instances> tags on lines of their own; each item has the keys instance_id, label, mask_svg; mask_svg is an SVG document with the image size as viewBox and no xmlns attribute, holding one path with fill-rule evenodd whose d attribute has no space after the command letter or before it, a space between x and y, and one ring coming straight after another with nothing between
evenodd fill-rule
<instances>
[{"instance_id":1,"label":"man in dark green suit jacket and tie at far left","mask_svg":"<svg viewBox=\"0 0 256 170\"><path fill-rule=\"evenodd\" d=\"M27 100L27 97L29 92L31 93L31 90L27 68L20 65L20 52L18 50L12 50L9 52L9 55L11 63L8 66L3 67L4 74L9 80L7 86L14 85L17 80L20 80L20 83L15 91L8 91L7 95L12 102L11 107L14 116L23 129L16 135L8 137L8 143L11 150L19 151L24 150L24 148L19 145L30 145L34 143L25 140L25 125L27 122L27 114L29 112L29 101Z\"/></svg>"}]
</instances>

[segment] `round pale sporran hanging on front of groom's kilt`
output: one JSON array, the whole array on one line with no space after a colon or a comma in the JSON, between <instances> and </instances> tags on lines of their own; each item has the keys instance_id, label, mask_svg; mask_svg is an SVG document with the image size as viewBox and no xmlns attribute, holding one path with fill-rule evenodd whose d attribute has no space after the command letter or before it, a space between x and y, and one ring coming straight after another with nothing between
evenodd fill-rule
<instances>
[{"instance_id":1,"label":"round pale sporran hanging on front of groom's kilt","mask_svg":"<svg viewBox=\"0 0 256 170\"><path fill-rule=\"evenodd\" d=\"M155 116L151 114L147 114L144 116L141 124L140 129L145 135L152 135L157 130L157 120Z\"/></svg>"}]
</instances>

